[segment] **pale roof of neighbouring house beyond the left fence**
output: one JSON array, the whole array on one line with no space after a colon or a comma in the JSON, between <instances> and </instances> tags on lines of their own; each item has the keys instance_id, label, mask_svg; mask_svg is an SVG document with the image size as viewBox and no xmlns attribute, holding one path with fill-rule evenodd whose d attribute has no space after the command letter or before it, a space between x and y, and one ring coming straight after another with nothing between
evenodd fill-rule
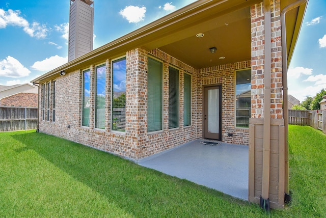
<instances>
[{"instance_id":1,"label":"pale roof of neighbouring house beyond the left fence","mask_svg":"<svg viewBox=\"0 0 326 218\"><path fill-rule=\"evenodd\" d=\"M31 84L17 84L13 86L0 86L0 99L6 98L18 93L38 94L38 87Z\"/></svg>"}]
</instances>

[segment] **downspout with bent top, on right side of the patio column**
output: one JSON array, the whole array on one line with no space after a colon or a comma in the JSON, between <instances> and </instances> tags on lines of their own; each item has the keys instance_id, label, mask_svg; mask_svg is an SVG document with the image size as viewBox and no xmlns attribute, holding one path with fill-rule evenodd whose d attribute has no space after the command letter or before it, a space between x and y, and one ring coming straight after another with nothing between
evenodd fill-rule
<instances>
[{"instance_id":1,"label":"downspout with bent top, on right side of the patio column","mask_svg":"<svg viewBox=\"0 0 326 218\"><path fill-rule=\"evenodd\" d=\"M305 4L307 0L298 0L286 6L281 12L281 32L282 32L282 68L283 68L283 118L284 118L284 158L285 158L285 201L289 202L290 198L290 179L289 179L289 145L288 145L288 133L289 133L289 120L288 120L288 87L287 87L287 48L286 48L286 24L285 24L285 14L296 8ZM288 200L287 200L288 199Z\"/></svg>"}]
</instances>

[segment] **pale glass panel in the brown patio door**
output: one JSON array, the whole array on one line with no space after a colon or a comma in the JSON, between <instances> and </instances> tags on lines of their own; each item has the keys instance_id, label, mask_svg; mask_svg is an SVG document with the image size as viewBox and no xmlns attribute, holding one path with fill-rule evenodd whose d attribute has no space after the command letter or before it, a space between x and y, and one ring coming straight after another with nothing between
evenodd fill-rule
<instances>
[{"instance_id":1,"label":"pale glass panel in the brown patio door","mask_svg":"<svg viewBox=\"0 0 326 218\"><path fill-rule=\"evenodd\" d=\"M209 89L208 97L208 132L219 133L219 89Z\"/></svg>"}]
</instances>

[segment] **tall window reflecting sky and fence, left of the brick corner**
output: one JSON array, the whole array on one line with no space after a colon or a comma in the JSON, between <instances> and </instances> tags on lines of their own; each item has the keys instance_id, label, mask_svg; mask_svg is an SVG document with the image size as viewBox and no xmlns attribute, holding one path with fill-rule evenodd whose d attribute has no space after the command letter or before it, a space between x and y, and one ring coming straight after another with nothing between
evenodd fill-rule
<instances>
[{"instance_id":1,"label":"tall window reflecting sky and fence, left of the brick corner","mask_svg":"<svg viewBox=\"0 0 326 218\"><path fill-rule=\"evenodd\" d=\"M112 61L112 126L115 131L126 129L126 58Z\"/></svg>"}]
</instances>

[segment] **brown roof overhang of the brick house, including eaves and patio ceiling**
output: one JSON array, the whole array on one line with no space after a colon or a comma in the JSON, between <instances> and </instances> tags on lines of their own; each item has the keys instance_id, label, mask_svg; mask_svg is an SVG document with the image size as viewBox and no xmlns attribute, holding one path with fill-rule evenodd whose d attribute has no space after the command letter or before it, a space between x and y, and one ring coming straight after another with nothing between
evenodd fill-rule
<instances>
[{"instance_id":1,"label":"brown roof overhang of the brick house, including eaves and patio ceiling","mask_svg":"<svg viewBox=\"0 0 326 218\"><path fill-rule=\"evenodd\" d=\"M281 11L295 1L281 1ZM118 58L139 47L158 48L196 69L251 60L250 7L260 2L262 0L196 1L53 69L34 82L56 78L63 70L71 72L103 63L108 57ZM288 63L306 6L307 3L286 14ZM203 33L204 37L196 37L198 33ZM210 47L218 49L210 53Z\"/></svg>"}]
</instances>

